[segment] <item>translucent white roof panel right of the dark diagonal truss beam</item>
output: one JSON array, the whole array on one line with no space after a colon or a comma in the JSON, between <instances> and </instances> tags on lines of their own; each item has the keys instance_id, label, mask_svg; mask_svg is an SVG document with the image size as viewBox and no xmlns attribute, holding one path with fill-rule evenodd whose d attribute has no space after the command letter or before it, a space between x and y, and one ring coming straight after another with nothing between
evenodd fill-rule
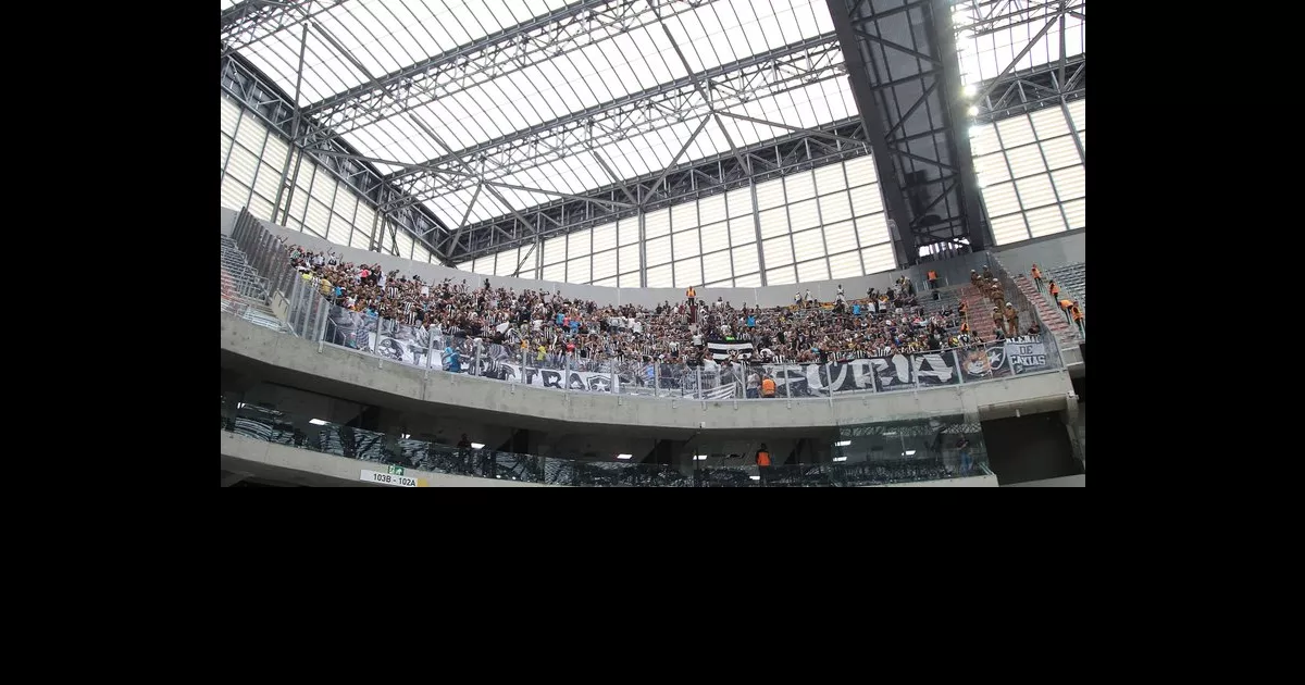
<instances>
[{"instance_id":1,"label":"translucent white roof panel right of the dark diagonal truss beam","mask_svg":"<svg viewBox=\"0 0 1305 685\"><path fill-rule=\"evenodd\" d=\"M1087 0L1067 3L1064 17L1058 16L1058 3L990 0L963 0L953 5L951 21L957 31L962 78L968 84L976 84L1001 76L1044 27L1047 31L1015 63L1011 72L1058 61L1061 26L1065 27L1065 56L1073 57L1086 52Z\"/></svg>"}]
</instances>

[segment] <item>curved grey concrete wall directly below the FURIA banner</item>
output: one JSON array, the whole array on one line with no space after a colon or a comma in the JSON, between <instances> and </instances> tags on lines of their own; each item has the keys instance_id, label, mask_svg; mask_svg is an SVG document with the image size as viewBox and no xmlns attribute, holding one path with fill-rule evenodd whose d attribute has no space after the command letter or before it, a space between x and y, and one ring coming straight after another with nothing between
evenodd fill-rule
<instances>
[{"instance_id":1,"label":"curved grey concrete wall directly below the FURIA banner","mask_svg":"<svg viewBox=\"0 0 1305 685\"><path fill-rule=\"evenodd\" d=\"M313 382L342 382L384 395L508 415L577 424L650 428L749 429L827 428L842 424L917 419L937 415L979 416L985 410L1064 408L1073 386L1064 371L915 393L861 393L833 399L685 401L596 393L564 393L424 371L376 356L281 334L232 314L222 317L222 350L271 364Z\"/></svg>"}]
</instances>

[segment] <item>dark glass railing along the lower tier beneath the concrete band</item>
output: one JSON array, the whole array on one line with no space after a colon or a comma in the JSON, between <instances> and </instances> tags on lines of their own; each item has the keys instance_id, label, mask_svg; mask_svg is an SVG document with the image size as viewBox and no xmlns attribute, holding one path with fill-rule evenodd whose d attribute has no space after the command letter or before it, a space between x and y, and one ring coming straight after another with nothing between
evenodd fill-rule
<instances>
[{"instance_id":1,"label":"dark glass railing along the lower tier beneath the concrete band","mask_svg":"<svg viewBox=\"0 0 1305 685\"><path fill-rule=\"evenodd\" d=\"M414 440L405 434L294 416L270 407L223 401L223 431L253 440L333 454L386 466L522 483L573 487L861 487L962 478L955 463L929 455L857 463L797 463L758 468L739 466L675 466L592 462L521 454L487 448L459 448ZM987 461L968 475L990 474Z\"/></svg>"}]
</instances>

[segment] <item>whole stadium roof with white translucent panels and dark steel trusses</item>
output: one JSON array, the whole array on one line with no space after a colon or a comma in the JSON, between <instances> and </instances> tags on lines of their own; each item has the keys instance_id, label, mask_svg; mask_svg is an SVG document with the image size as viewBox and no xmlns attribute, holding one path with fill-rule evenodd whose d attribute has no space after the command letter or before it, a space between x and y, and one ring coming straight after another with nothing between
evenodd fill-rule
<instances>
[{"instance_id":1,"label":"whole stadium roof with white translucent panels and dark steel trusses","mask_svg":"<svg viewBox=\"0 0 1305 685\"><path fill-rule=\"evenodd\" d=\"M1082 84L1067 57L1083 61L1086 0L848 1L859 42L917 67L902 70L897 61L895 73L874 77L873 97L886 102L887 89L898 103L882 128L900 129L910 150L876 149L876 158L921 162L933 138L945 142L951 124L934 112L937 94L927 116L916 114L940 82L941 72L928 69L938 63L929 56L938 47L925 47L934 39L886 39L885 31L900 23L910 33L927 5L947 4L959 78L980 91L981 112L971 116L1000 117L1027 99L1024 85L1047 86L1052 70L1056 97L1066 81ZM518 224L543 231L542 221L526 219L529 209L557 227L574 211L557 221L540 207L582 201L586 217L647 209L668 179L683 174L693 183L714 160L719 168L702 177L723 187L787 172L797 158L869 151L873 136L861 125L869 119L859 112L869 91L859 102L856 78L844 77L846 46L835 31L848 20L833 21L830 7L842 12L843 3L223 0L222 46L294 104L277 110L275 125L318 155L351 158L382 176L389 200L380 207L416 205L433 217L442 235L414 234L448 258L462 249L463 228L491 236L475 247L467 237L467 252L501 249L523 239ZM883 59L864 55L883 68ZM1007 87L1021 78L1028 82ZM907 110L916 95L921 102ZM919 132L904 121L912 114L925 119Z\"/></svg>"}]
</instances>

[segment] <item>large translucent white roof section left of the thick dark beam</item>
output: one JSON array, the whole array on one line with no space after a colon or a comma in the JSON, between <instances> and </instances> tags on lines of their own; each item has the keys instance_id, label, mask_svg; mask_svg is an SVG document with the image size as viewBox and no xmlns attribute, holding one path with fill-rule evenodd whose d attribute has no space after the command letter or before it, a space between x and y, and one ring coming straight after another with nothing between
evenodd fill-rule
<instances>
[{"instance_id":1,"label":"large translucent white roof section left of the thick dark beam","mask_svg":"<svg viewBox=\"0 0 1305 685\"><path fill-rule=\"evenodd\" d=\"M309 18L295 16L305 7ZM239 52L294 94L303 48L300 106L363 155L449 170L398 179L449 224L656 174L685 145L679 164L856 115L822 0L348 0L262 10L290 17L236 34ZM694 136L713 108L779 125L720 116ZM479 179L525 189L471 202Z\"/></svg>"}]
</instances>

